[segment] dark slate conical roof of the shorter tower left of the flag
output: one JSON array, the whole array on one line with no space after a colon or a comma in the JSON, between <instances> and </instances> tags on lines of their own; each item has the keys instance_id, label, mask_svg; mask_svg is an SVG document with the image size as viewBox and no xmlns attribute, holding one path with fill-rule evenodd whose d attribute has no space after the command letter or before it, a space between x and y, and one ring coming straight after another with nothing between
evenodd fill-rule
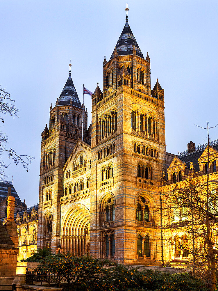
<instances>
[{"instance_id":1,"label":"dark slate conical roof of the shorter tower left of the flag","mask_svg":"<svg viewBox=\"0 0 218 291\"><path fill-rule=\"evenodd\" d=\"M59 105L69 105L70 99L72 99L74 106L82 106L71 78L71 71L69 71L67 82L58 98Z\"/></svg>"}]
</instances>

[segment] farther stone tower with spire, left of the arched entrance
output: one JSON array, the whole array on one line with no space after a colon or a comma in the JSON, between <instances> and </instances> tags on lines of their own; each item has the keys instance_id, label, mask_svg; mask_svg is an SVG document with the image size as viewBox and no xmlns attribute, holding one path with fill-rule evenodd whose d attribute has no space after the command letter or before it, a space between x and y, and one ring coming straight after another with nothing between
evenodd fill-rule
<instances>
[{"instance_id":1,"label":"farther stone tower with spire, left of the arched entrance","mask_svg":"<svg viewBox=\"0 0 218 291\"><path fill-rule=\"evenodd\" d=\"M71 66L71 64L70 64ZM84 131L87 129L87 111L84 112ZM42 132L38 247L57 251L60 244L60 197L63 195L63 167L82 136L82 105L78 98L71 70L67 82L50 107L49 128Z\"/></svg>"}]
</instances>

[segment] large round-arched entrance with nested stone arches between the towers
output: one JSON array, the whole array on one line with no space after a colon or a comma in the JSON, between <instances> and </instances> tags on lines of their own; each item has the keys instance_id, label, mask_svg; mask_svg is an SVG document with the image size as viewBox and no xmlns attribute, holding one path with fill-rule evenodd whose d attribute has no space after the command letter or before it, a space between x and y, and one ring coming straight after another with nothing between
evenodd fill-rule
<instances>
[{"instance_id":1,"label":"large round-arched entrance with nested stone arches between the towers","mask_svg":"<svg viewBox=\"0 0 218 291\"><path fill-rule=\"evenodd\" d=\"M75 256L87 255L90 242L90 212L84 205L76 205L65 215L62 226L61 252Z\"/></svg>"}]
</instances>

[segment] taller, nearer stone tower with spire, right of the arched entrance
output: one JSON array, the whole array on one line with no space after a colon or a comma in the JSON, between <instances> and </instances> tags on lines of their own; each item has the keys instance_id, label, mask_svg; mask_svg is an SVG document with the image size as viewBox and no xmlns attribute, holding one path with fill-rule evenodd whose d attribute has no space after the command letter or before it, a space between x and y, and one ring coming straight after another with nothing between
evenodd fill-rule
<instances>
[{"instance_id":1,"label":"taller, nearer stone tower with spire, right of the arched entrance","mask_svg":"<svg viewBox=\"0 0 218 291\"><path fill-rule=\"evenodd\" d=\"M115 49L103 61L103 92L97 86L92 95L91 153L91 255L160 264L155 209L165 167L164 89L157 81L151 91L150 58L144 58L127 13Z\"/></svg>"}]
</instances>

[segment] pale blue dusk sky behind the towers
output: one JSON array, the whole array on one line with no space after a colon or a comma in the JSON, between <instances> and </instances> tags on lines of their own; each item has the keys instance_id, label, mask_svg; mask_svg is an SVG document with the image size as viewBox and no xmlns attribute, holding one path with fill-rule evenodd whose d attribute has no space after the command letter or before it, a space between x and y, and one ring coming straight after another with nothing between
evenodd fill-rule
<instances>
[{"instance_id":1,"label":"pale blue dusk sky behind the towers","mask_svg":"<svg viewBox=\"0 0 218 291\"><path fill-rule=\"evenodd\" d=\"M125 25L126 1L1 1L0 84L19 108L1 130L17 154L35 157L26 172L10 164L11 180L28 206L38 203L41 132L49 124L68 78L82 102L83 84L102 90L103 60L108 61ZM137 43L151 61L151 87L165 90L166 150L174 154L206 141L217 121L218 1L128 1L128 20ZM91 98L85 95L88 125ZM210 130L211 141L218 128ZM10 161L10 160L9 160ZM6 158L6 163L9 164Z\"/></svg>"}]
</instances>

